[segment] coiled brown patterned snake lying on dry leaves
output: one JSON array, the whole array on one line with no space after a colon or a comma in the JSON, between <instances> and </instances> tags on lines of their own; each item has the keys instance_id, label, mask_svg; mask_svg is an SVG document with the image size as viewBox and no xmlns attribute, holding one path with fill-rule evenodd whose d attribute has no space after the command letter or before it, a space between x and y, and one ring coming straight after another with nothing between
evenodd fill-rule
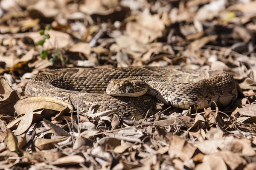
<instances>
[{"instance_id":1,"label":"coiled brown patterned snake lying on dry leaves","mask_svg":"<svg viewBox=\"0 0 256 170\"><path fill-rule=\"evenodd\" d=\"M119 89L111 90L111 85L129 87L122 92L126 96L113 92ZM141 86L143 92L138 92ZM114 96L108 95L106 90L112 91ZM156 108L155 99L182 109L203 109L215 104L227 106L237 99L238 87L226 71L179 66L61 68L43 71L29 79L25 94L61 99L81 113L97 104L97 112L116 110L126 119L141 119L148 109Z\"/></svg>"}]
</instances>

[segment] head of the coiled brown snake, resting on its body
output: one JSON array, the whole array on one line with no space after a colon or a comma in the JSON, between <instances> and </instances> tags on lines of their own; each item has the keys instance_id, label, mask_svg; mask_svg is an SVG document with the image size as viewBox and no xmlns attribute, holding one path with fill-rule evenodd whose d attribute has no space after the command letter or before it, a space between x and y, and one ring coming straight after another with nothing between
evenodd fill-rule
<instances>
[{"instance_id":1,"label":"head of the coiled brown snake, resting on its body","mask_svg":"<svg viewBox=\"0 0 256 170\"><path fill-rule=\"evenodd\" d=\"M112 79L106 92L111 96L138 97L148 91L148 85L143 80L130 78Z\"/></svg>"}]
</instances>

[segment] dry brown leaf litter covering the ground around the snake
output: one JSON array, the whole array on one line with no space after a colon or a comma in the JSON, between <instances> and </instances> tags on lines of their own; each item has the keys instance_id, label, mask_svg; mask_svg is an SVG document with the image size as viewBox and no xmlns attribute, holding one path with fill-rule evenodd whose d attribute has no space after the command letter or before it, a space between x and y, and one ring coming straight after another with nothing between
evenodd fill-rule
<instances>
[{"instance_id":1,"label":"dry brown leaf litter covering the ground around the snake","mask_svg":"<svg viewBox=\"0 0 256 170\"><path fill-rule=\"evenodd\" d=\"M255 1L2 0L0 169L253 170ZM51 29L50 29L51 28ZM141 120L86 114L25 96L40 71L180 65L224 70L240 95L227 108L157 103Z\"/></svg>"}]
</instances>

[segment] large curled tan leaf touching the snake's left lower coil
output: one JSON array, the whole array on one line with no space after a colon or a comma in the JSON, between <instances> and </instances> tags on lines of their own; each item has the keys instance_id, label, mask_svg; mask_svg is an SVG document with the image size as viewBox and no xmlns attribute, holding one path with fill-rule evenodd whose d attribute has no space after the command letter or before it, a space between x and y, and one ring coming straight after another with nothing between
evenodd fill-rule
<instances>
[{"instance_id":1,"label":"large curled tan leaf touching the snake's left lower coil","mask_svg":"<svg viewBox=\"0 0 256 170\"><path fill-rule=\"evenodd\" d=\"M65 107L68 107L70 110L72 106L61 101L55 99L53 97L47 96L31 96L20 99L14 105L15 110L20 114L25 114L28 112L29 108L32 108L33 111L38 109L51 109L54 111L62 111Z\"/></svg>"}]
</instances>

